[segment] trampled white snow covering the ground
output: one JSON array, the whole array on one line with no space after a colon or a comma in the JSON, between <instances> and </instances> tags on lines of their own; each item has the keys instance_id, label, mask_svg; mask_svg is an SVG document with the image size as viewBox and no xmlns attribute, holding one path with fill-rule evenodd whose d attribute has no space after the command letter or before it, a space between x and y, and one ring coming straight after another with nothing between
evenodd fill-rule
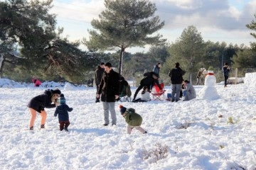
<instances>
[{"instance_id":1,"label":"trampled white snow covering the ground","mask_svg":"<svg viewBox=\"0 0 256 170\"><path fill-rule=\"evenodd\" d=\"M255 82L256 74L250 75ZM246 78L246 77L245 77ZM192 101L124 102L142 115L144 135L132 130L115 105L117 126L104 127L102 103L96 89L43 82L41 87L0 79L1 169L256 169L256 91L245 84L215 84L220 98ZM55 86L65 94L70 132L58 130L55 108L46 108L46 129L28 130L26 104ZM198 93L203 86L194 86ZM171 91L170 86L165 86ZM132 94L136 87L132 87ZM208 94L211 96L210 92ZM138 95L138 97L140 97ZM111 120L111 119L110 119ZM167 147L167 157L156 161L151 151ZM146 159L145 154L149 157ZM150 154L151 153L151 154Z\"/></svg>"}]
</instances>

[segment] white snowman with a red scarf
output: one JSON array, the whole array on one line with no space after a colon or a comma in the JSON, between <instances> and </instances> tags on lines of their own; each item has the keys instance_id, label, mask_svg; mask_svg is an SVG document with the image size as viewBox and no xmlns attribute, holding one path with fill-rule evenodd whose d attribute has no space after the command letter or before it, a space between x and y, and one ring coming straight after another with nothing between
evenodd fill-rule
<instances>
[{"instance_id":1,"label":"white snowman with a red scarf","mask_svg":"<svg viewBox=\"0 0 256 170\"><path fill-rule=\"evenodd\" d=\"M216 77L214 75L214 72L211 70L208 70L206 79L205 79L205 86L203 86L203 89L199 91L199 98L208 99L208 100L215 100L220 98L218 95L218 92L215 88L216 83Z\"/></svg>"}]
</instances>

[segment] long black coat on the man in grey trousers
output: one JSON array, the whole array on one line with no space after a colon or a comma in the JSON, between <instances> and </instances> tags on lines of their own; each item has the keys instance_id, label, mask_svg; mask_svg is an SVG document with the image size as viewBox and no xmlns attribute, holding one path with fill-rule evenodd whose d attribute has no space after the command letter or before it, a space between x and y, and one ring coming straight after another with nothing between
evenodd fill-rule
<instances>
[{"instance_id":1,"label":"long black coat on the man in grey trousers","mask_svg":"<svg viewBox=\"0 0 256 170\"><path fill-rule=\"evenodd\" d=\"M110 73L104 72L97 94L101 94L102 101L114 102L114 96L119 95L119 74L113 69L110 70Z\"/></svg>"}]
</instances>

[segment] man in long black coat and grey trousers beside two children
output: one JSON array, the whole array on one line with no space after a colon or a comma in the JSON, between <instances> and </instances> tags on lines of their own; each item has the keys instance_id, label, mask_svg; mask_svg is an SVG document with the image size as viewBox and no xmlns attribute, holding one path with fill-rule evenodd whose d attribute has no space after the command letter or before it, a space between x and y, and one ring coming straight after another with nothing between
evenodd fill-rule
<instances>
[{"instance_id":1,"label":"man in long black coat and grey trousers beside two children","mask_svg":"<svg viewBox=\"0 0 256 170\"><path fill-rule=\"evenodd\" d=\"M119 98L119 74L114 72L110 62L105 64L105 72L100 81L96 97L100 98L100 95L104 109L105 123L103 125L107 126L109 124L109 112L112 118L112 125L116 125L117 116L114 111L114 103Z\"/></svg>"}]
</instances>

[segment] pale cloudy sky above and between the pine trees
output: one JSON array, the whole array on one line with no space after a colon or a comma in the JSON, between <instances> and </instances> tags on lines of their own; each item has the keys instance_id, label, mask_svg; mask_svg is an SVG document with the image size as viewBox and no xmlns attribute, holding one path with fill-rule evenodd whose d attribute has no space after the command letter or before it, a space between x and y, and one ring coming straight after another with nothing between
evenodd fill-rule
<instances>
[{"instance_id":1,"label":"pale cloudy sky above and between the pine trees","mask_svg":"<svg viewBox=\"0 0 256 170\"><path fill-rule=\"evenodd\" d=\"M196 26L203 40L250 45L254 42L246 24L255 20L256 0L152 0L156 15L165 22L161 34L175 42L188 26ZM58 26L70 40L89 38L92 19L105 10L103 0L54 0L51 12L57 14ZM82 47L84 48L84 47ZM128 48L127 52L146 52L145 48Z\"/></svg>"}]
</instances>

